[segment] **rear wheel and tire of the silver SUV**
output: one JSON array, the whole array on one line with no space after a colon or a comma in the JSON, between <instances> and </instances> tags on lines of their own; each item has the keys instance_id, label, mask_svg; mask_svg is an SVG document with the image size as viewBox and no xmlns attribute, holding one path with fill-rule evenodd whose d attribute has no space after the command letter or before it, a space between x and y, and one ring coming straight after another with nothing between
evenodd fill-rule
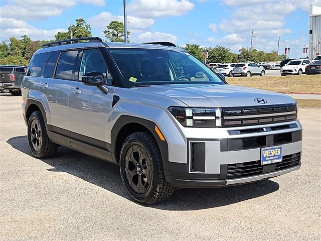
<instances>
[{"instance_id":1,"label":"rear wheel and tire of the silver SUV","mask_svg":"<svg viewBox=\"0 0 321 241\"><path fill-rule=\"evenodd\" d=\"M48 138L44 117L40 111L34 111L28 120L28 142L32 154L37 158L53 157L58 145Z\"/></svg>"}]
</instances>

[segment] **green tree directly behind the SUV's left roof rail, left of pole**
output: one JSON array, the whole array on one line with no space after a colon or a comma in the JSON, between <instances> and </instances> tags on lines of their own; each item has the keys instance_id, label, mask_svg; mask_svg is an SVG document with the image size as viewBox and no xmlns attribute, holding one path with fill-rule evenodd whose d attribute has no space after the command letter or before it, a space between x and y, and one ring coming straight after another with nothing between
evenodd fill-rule
<instances>
[{"instance_id":1,"label":"green tree directly behind the SUV's left roof rail, left of pole","mask_svg":"<svg viewBox=\"0 0 321 241\"><path fill-rule=\"evenodd\" d=\"M90 24L86 24L84 19L76 19L76 25L69 26L67 32L58 32L55 35L56 41L70 39L70 31L72 32L73 38L92 36Z\"/></svg>"}]
</instances>

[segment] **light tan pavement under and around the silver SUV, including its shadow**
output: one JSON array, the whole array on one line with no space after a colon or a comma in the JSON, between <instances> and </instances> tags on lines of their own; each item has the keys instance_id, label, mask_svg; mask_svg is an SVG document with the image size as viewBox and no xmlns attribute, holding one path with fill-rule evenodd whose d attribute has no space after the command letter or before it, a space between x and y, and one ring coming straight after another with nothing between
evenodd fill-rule
<instances>
[{"instance_id":1,"label":"light tan pavement under and around the silver SUV, including its shadow","mask_svg":"<svg viewBox=\"0 0 321 241\"><path fill-rule=\"evenodd\" d=\"M143 206L115 165L66 148L33 158L20 102L0 94L1 240L320 240L321 109L300 109L298 171Z\"/></svg>"}]
</instances>

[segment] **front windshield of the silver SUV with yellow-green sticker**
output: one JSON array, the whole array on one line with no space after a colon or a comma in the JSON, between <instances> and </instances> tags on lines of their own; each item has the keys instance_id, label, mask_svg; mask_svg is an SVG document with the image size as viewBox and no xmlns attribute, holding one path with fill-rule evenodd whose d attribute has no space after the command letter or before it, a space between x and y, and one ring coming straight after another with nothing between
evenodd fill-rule
<instances>
[{"instance_id":1,"label":"front windshield of the silver SUV with yellow-green sticker","mask_svg":"<svg viewBox=\"0 0 321 241\"><path fill-rule=\"evenodd\" d=\"M125 87L152 84L224 82L187 52L164 49L111 49Z\"/></svg>"}]
</instances>

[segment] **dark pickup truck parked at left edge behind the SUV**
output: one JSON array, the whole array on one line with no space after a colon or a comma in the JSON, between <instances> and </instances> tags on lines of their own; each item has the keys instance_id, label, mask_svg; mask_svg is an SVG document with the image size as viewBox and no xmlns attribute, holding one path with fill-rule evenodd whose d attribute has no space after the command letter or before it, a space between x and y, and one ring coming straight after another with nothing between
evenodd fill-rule
<instances>
[{"instance_id":1,"label":"dark pickup truck parked at left edge behind the SUV","mask_svg":"<svg viewBox=\"0 0 321 241\"><path fill-rule=\"evenodd\" d=\"M0 66L0 88L8 90L12 95L21 95L21 81L26 74L26 66Z\"/></svg>"}]
</instances>

